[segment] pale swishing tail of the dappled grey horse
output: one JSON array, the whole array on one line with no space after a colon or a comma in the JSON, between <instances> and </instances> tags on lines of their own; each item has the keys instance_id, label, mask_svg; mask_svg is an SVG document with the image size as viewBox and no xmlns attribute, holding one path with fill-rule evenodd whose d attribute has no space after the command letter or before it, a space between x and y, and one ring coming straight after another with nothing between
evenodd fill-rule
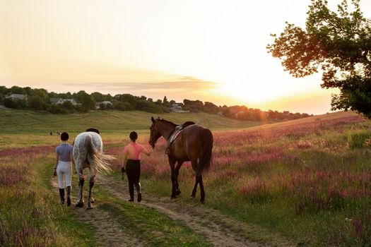
<instances>
[{"instance_id":1,"label":"pale swishing tail of the dappled grey horse","mask_svg":"<svg viewBox=\"0 0 371 247\"><path fill-rule=\"evenodd\" d=\"M101 174L108 174L112 171L110 160L114 159L114 157L111 155L103 155L93 144L90 135L85 136L85 147L88 162L93 169L96 169Z\"/></svg>"}]
</instances>

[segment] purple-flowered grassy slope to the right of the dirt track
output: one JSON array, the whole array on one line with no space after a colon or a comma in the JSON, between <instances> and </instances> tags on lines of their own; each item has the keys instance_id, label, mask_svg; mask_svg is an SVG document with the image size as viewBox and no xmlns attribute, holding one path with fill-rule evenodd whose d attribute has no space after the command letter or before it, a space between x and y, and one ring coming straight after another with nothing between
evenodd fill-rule
<instances>
[{"instance_id":1,"label":"purple-flowered grassy slope to the right of the dirt track","mask_svg":"<svg viewBox=\"0 0 371 247\"><path fill-rule=\"evenodd\" d=\"M206 207L292 239L298 246L371 243L371 124L351 112L214 133ZM165 142L143 161L143 187L170 195ZM112 154L122 147L112 147ZM119 163L119 162L118 162ZM184 203L194 183L184 164ZM261 239L252 232L252 239Z\"/></svg>"}]
</instances>

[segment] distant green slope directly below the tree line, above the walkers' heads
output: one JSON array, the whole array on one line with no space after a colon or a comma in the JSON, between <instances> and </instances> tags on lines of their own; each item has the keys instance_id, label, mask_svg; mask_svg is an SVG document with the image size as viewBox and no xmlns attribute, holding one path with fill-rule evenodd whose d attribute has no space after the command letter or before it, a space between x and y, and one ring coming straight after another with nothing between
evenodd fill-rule
<instances>
[{"instance_id":1,"label":"distant green slope directly below the tree line, above the walkers' heads","mask_svg":"<svg viewBox=\"0 0 371 247\"><path fill-rule=\"evenodd\" d=\"M95 111L86 114L45 114L25 110L0 110L1 133L49 133L57 131L80 132L89 127L102 132L144 130L151 126L151 116L183 123L195 121L211 129L247 128L261 124L255 121L238 121L206 113L151 114L130 111Z\"/></svg>"}]
</instances>

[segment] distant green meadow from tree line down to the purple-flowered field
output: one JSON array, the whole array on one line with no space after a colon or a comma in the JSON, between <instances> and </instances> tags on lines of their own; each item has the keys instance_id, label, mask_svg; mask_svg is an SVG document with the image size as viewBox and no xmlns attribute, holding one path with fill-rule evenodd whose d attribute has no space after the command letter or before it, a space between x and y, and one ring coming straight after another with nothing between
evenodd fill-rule
<instances>
[{"instance_id":1,"label":"distant green meadow from tree line down to the purple-flowered field","mask_svg":"<svg viewBox=\"0 0 371 247\"><path fill-rule=\"evenodd\" d=\"M151 116L147 112L95 111L88 114L48 114L0 109L0 150L59 143L57 132L66 131L73 138L87 128L98 128L104 140L122 141L130 131L148 135ZM216 114L161 114L160 117L184 123L195 121L212 130L247 128L261 122L226 119ZM52 132L54 135L49 135Z\"/></svg>"}]
</instances>

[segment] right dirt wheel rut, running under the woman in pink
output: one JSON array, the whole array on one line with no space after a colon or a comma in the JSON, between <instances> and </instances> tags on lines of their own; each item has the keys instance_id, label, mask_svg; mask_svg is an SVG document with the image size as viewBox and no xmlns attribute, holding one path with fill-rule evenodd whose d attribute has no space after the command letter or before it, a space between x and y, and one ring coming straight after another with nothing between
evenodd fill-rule
<instances>
[{"instance_id":1,"label":"right dirt wheel rut, running under the woman in pink","mask_svg":"<svg viewBox=\"0 0 371 247\"><path fill-rule=\"evenodd\" d=\"M127 200L129 192L127 189L127 180L124 182L98 175L95 184L105 188L117 198ZM142 191L143 200L141 205L151 207L161 212L171 219L182 222L192 231L203 234L213 246L264 246L259 243L249 241L243 232L249 227L247 224L236 222L225 215L221 215L216 210L210 210L202 205L187 205L179 200L170 198L160 198L155 195L149 195ZM226 226L233 226L233 231ZM237 235L235 232L242 234Z\"/></svg>"}]
</instances>

